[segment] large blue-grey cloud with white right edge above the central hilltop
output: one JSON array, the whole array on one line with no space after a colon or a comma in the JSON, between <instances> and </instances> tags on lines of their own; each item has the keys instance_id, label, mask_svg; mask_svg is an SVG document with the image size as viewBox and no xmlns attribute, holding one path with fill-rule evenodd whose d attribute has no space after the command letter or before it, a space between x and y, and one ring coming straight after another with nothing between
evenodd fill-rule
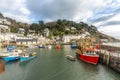
<instances>
[{"instance_id":1,"label":"large blue-grey cloud with white right edge above the central hilltop","mask_svg":"<svg viewBox=\"0 0 120 80\"><path fill-rule=\"evenodd\" d=\"M94 5L91 5L91 4ZM27 0L27 8L37 20L70 19L84 20L93 14L93 10L104 5L104 0Z\"/></svg>"}]
</instances>

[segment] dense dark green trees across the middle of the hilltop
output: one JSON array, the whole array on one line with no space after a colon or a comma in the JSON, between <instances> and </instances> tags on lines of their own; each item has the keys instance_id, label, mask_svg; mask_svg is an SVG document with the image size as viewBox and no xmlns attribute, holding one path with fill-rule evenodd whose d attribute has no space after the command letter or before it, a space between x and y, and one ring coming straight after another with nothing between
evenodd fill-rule
<instances>
[{"instance_id":1,"label":"dense dark green trees across the middle of the hilltop","mask_svg":"<svg viewBox=\"0 0 120 80\"><path fill-rule=\"evenodd\" d=\"M72 30L71 28L74 27L76 30ZM81 34L84 30L94 34L96 29L94 26L88 26L88 24L84 22L76 23L74 21L69 20L61 20L58 19L56 22L48 22L44 23L44 21L39 21L39 23L33 23L30 25L31 30L35 30L36 33L43 33L43 30L45 28L48 28L50 30L51 36L62 36L62 35L68 35L68 34ZM69 28L69 30L66 30L66 28Z\"/></svg>"}]
</instances>

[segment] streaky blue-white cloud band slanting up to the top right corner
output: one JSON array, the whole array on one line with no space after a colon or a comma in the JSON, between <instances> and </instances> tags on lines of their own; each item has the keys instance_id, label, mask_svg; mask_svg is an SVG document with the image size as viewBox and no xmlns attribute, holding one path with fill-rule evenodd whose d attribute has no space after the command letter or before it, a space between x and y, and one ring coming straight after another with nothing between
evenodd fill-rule
<instances>
[{"instance_id":1,"label":"streaky blue-white cloud band slanting up to the top right corner","mask_svg":"<svg viewBox=\"0 0 120 80\"><path fill-rule=\"evenodd\" d=\"M116 1L112 0L110 3L106 4L104 8L96 11L93 16L88 18L88 21L92 23L106 21L120 13L120 4L116 3Z\"/></svg>"}]
</instances>

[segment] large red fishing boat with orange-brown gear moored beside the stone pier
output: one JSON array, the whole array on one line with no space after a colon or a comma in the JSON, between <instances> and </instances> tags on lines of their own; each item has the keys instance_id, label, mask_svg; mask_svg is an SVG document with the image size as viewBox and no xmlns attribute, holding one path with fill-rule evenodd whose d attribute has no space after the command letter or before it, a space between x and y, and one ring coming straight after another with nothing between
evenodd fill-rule
<instances>
[{"instance_id":1,"label":"large red fishing boat with orange-brown gear moored beside the stone pier","mask_svg":"<svg viewBox=\"0 0 120 80\"><path fill-rule=\"evenodd\" d=\"M81 40L80 40L81 41ZM91 39L89 42L89 39L84 41L81 41L78 45L78 49L76 49L76 53L77 53L77 57L78 59L87 62L87 63L91 63L91 64L98 64L98 60L99 60L99 55L95 53L95 48L94 47L90 47L89 45L91 44Z\"/></svg>"}]
</instances>

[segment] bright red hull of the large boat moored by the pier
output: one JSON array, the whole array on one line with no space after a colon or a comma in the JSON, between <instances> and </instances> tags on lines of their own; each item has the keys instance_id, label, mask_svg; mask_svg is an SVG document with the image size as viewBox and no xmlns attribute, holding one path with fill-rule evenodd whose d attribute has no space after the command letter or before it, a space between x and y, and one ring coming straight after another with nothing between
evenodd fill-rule
<instances>
[{"instance_id":1,"label":"bright red hull of the large boat moored by the pier","mask_svg":"<svg viewBox=\"0 0 120 80\"><path fill-rule=\"evenodd\" d=\"M99 60L99 55L97 55L97 54L79 54L78 58L87 63L97 64L98 60Z\"/></svg>"}]
</instances>

